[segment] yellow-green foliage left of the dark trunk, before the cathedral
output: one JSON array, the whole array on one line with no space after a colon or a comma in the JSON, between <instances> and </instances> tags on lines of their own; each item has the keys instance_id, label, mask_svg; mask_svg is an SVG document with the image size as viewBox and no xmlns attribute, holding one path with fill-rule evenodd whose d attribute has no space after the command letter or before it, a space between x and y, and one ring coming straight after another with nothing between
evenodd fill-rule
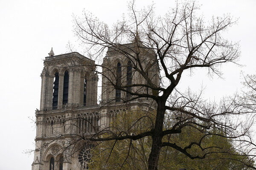
<instances>
[{"instance_id":1,"label":"yellow-green foliage left of the dark trunk, before the cathedral","mask_svg":"<svg viewBox=\"0 0 256 170\"><path fill-rule=\"evenodd\" d=\"M116 115L111 131L120 135L136 135L152 128L154 113L127 111ZM104 136L108 137L108 136ZM151 136L136 141L104 141L93 149L94 170L147 170L151 148Z\"/></svg>"}]
</instances>

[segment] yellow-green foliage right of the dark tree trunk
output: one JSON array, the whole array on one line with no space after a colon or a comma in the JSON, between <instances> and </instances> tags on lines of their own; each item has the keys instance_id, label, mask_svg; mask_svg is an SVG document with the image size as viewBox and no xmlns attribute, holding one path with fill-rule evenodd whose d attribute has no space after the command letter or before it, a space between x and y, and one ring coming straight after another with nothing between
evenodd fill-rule
<instances>
[{"instance_id":1,"label":"yellow-green foliage right of the dark tree trunk","mask_svg":"<svg viewBox=\"0 0 256 170\"><path fill-rule=\"evenodd\" d=\"M174 142L184 148L191 142L198 143L201 147L193 144L188 152L193 156L205 156L204 159L189 159L185 154L172 147L163 147L160 154L160 170L250 170L244 163L250 159L242 153L236 152L230 139L214 135L205 135L194 127L184 127L177 135L169 136L168 141ZM223 134L224 135L224 134ZM166 139L167 140L167 139Z\"/></svg>"}]
</instances>

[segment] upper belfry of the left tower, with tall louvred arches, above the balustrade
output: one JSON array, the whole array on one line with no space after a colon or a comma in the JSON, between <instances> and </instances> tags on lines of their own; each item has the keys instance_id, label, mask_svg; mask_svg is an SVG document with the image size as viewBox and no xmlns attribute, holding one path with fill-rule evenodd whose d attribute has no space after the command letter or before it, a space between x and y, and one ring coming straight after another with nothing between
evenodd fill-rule
<instances>
[{"instance_id":1,"label":"upper belfry of the left tower, with tall louvred arches, above the balustrade","mask_svg":"<svg viewBox=\"0 0 256 170\"><path fill-rule=\"evenodd\" d=\"M77 52L54 56L51 50L41 74L40 110L96 105L98 78L94 69L94 61Z\"/></svg>"}]
</instances>

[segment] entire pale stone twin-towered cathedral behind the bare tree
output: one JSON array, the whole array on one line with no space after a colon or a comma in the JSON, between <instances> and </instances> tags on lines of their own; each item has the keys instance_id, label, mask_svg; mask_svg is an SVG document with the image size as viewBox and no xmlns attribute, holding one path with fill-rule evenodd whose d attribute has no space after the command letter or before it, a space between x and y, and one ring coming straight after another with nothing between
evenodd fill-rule
<instances>
[{"instance_id":1,"label":"entire pale stone twin-towered cathedral behind the bare tree","mask_svg":"<svg viewBox=\"0 0 256 170\"><path fill-rule=\"evenodd\" d=\"M151 55L147 54L143 60L145 65L151 60ZM108 78L102 76L101 102L97 104L95 62L77 52L54 56L51 50L44 60L41 74L41 103L40 110L35 113L37 130L32 170L88 169L93 144L84 142L82 136L91 136L107 128L120 111L137 107L148 110L152 106L152 101L146 98L128 101L130 96L111 84L118 81L127 85L146 83L140 74L128 68L131 62L134 62L132 58L129 62L123 54L108 50L101 72ZM121 71L119 77L110 75L118 71ZM148 71L156 84L159 79L157 73L157 67ZM127 90L152 93L147 88Z\"/></svg>"}]
</instances>

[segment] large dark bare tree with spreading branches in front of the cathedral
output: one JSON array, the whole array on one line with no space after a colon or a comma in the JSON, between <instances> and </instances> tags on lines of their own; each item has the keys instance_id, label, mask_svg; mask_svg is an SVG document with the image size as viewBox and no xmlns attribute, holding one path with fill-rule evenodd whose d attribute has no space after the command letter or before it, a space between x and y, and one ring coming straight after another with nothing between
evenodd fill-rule
<instances>
[{"instance_id":1,"label":"large dark bare tree with spreading branches in front of the cathedral","mask_svg":"<svg viewBox=\"0 0 256 170\"><path fill-rule=\"evenodd\" d=\"M133 1L129 4L129 18L118 21L113 28L86 12L84 18L74 18L76 34L87 47L90 57L98 59L107 50L116 52L131 61L132 79L141 80L134 84L127 83L128 79L120 81L123 76L117 70L121 66L109 68L107 65L97 65L102 67L98 74L105 79L103 84L129 94L120 99L124 103L147 98L156 106L155 117L151 119L154 122L139 133L128 133L131 127L122 131L105 128L81 139L137 141L150 137L148 170L157 170L160 152L165 147L171 147L190 159L205 159L215 153L232 153L222 150L218 144L204 144L209 136L221 136L232 141L233 150L236 150L233 154L247 156L246 161L233 159L256 169L253 165L254 150L249 149L253 144L249 136L251 123L239 122L244 120L239 116L247 112L237 105L236 98L223 99L217 104L203 100L201 94L176 89L184 72L207 68L208 74L221 76L221 64L236 63L240 56L239 44L229 42L221 34L236 20L227 15L213 17L209 23L205 23L203 17L197 15L197 10L195 3L177 3L164 17L156 17L153 6L137 11ZM188 127L200 132L198 139L186 141L185 145L172 140ZM192 148L195 147L200 148L201 152L193 153Z\"/></svg>"}]
</instances>

